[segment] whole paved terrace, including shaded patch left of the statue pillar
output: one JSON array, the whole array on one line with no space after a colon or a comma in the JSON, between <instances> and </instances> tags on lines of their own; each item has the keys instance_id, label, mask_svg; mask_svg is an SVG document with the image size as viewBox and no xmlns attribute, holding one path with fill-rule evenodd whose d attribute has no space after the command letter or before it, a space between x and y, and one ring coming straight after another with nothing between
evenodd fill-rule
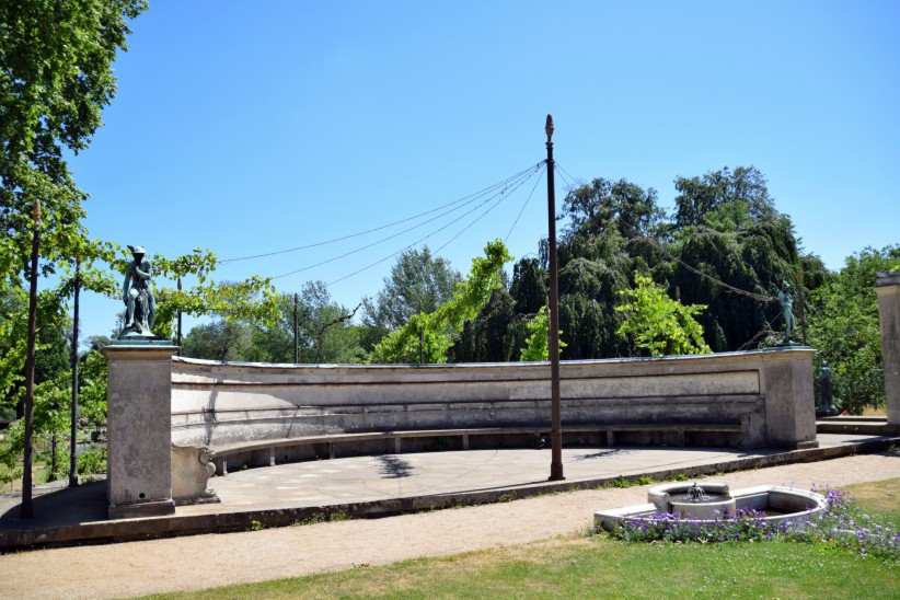
<instances>
[{"instance_id":1,"label":"whole paved terrace, including shaded patch left of the statue pillar","mask_svg":"<svg viewBox=\"0 0 900 600\"><path fill-rule=\"evenodd\" d=\"M819 435L820 448L875 439L862 435ZM566 482L597 481L659 471L729 464L777 454L776 450L706 448L572 448L563 451ZM550 450L466 450L382 454L246 469L212 477L219 504L177 507L170 519L284 508L378 503L395 498L464 496L480 492L546 487ZM10 529L83 526L107 521L105 484L76 489L48 486L38 492L36 519L16 518L18 495L0 499L0 533Z\"/></svg>"}]
</instances>

